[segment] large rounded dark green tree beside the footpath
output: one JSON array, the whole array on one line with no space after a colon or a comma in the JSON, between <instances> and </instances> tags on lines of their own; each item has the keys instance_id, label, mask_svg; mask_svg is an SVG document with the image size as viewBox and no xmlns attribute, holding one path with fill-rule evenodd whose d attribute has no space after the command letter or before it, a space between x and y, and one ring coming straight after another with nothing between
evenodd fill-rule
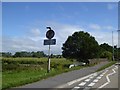
<instances>
[{"instance_id":1,"label":"large rounded dark green tree beside the footpath","mask_svg":"<svg viewBox=\"0 0 120 90\"><path fill-rule=\"evenodd\" d=\"M98 56L98 42L89 33L79 31L69 36L62 47L62 55L78 61L88 61Z\"/></svg>"}]
</instances>

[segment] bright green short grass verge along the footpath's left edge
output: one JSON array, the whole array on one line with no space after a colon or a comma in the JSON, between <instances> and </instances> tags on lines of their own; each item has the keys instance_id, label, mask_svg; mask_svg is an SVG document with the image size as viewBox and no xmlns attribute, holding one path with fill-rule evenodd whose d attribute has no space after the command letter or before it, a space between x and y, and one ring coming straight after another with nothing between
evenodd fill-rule
<instances>
[{"instance_id":1,"label":"bright green short grass verge along the footpath's left edge","mask_svg":"<svg viewBox=\"0 0 120 90\"><path fill-rule=\"evenodd\" d=\"M50 73L47 73L45 69L39 70L39 69L33 69L33 68L29 70L23 70L23 71L6 71L6 72L3 72L3 76L2 76L3 78L2 88L7 89L11 87L24 85L24 84L35 82L51 76L55 76L63 72L68 72L68 71L72 71L80 68L83 68L83 66L74 67L71 69L64 69L64 70L52 69Z\"/></svg>"}]
</instances>

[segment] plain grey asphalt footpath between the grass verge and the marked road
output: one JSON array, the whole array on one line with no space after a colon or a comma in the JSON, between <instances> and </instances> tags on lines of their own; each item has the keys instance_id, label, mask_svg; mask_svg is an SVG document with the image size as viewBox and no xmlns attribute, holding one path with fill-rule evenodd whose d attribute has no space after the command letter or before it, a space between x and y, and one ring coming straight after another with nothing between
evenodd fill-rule
<instances>
[{"instance_id":1,"label":"plain grey asphalt footpath between the grass verge and the marked road","mask_svg":"<svg viewBox=\"0 0 120 90\"><path fill-rule=\"evenodd\" d=\"M41 80L17 88L73 88L71 86L74 83L80 81L80 78L94 73L97 69L99 69L107 63L107 61L101 62L100 64L93 67L87 67L81 70L74 70L71 72L63 73L45 80Z\"/></svg>"}]
</instances>

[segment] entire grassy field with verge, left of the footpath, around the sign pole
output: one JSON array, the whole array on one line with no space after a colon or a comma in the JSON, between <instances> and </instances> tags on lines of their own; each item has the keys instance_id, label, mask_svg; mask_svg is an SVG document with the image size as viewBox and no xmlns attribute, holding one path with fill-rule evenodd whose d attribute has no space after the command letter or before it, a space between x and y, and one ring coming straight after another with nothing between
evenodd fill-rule
<instances>
[{"instance_id":1,"label":"entire grassy field with verge, left of the footpath, around the sign pole","mask_svg":"<svg viewBox=\"0 0 120 90\"><path fill-rule=\"evenodd\" d=\"M2 88L20 86L67 72L73 62L65 58L51 59L51 72L47 73L47 58L2 58Z\"/></svg>"}]
</instances>

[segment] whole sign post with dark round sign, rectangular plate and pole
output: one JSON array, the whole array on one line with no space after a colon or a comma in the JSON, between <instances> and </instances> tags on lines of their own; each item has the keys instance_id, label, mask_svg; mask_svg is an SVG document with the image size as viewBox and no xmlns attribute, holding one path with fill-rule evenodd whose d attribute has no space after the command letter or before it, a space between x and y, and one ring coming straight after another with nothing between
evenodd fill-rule
<instances>
[{"instance_id":1,"label":"whole sign post with dark round sign, rectangular plate and pole","mask_svg":"<svg viewBox=\"0 0 120 90\"><path fill-rule=\"evenodd\" d=\"M44 40L44 45L49 45L49 49L48 49L48 69L47 72L50 72L50 45L55 45L56 44L56 39L52 39L55 35L55 32L51 29L51 27L47 27L47 29L49 29L46 32L46 37L48 39Z\"/></svg>"}]
</instances>

